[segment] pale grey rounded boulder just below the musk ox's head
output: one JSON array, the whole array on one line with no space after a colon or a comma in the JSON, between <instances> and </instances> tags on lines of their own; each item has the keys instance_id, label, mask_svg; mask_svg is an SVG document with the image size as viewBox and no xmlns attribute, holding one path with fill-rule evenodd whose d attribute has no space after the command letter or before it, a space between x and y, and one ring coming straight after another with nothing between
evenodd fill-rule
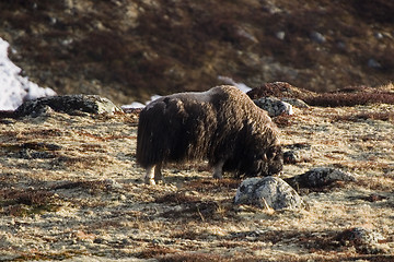
<instances>
[{"instance_id":1,"label":"pale grey rounded boulder just below the musk ox's head","mask_svg":"<svg viewBox=\"0 0 394 262\"><path fill-rule=\"evenodd\" d=\"M248 178L236 190L235 204L251 204L260 209L296 210L308 204L287 182L277 177Z\"/></svg>"}]
</instances>

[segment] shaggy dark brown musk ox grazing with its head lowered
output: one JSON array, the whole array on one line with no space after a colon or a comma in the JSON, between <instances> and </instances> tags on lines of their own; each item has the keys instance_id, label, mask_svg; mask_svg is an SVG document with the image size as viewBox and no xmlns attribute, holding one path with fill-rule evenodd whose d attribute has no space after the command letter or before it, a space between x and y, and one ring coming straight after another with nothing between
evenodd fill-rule
<instances>
[{"instance_id":1,"label":"shaggy dark brown musk ox grazing with its head lowered","mask_svg":"<svg viewBox=\"0 0 394 262\"><path fill-rule=\"evenodd\" d=\"M137 163L144 181L162 180L165 163L208 159L213 178L281 170L279 132L267 114L234 86L179 93L151 102L139 116Z\"/></svg>"}]
</instances>

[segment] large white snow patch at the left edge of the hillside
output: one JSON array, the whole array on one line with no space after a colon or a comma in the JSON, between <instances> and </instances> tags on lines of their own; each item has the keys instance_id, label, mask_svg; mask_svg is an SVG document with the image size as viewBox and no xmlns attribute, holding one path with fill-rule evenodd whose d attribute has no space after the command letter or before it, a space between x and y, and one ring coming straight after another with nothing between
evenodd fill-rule
<instances>
[{"instance_id":1,"label":"large white snow patch at the left edge of the hillside","mask_svg":"<svg viewBox=\"0 0 394 262\"><path fill-rule=\"evenodd\" d=\"M39 87L21 75L21 68L8 57L9 46L0 37L0 110L14 110L24 100L56 95L51 88Z\"/></svg>"}]
</instances>

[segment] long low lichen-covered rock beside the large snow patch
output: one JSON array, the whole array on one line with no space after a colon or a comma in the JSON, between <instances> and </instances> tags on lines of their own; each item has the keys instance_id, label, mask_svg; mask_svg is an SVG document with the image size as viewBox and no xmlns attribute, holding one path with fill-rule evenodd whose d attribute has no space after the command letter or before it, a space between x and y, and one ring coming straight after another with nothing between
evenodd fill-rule
<instances>
[{"instance_id":1,"label":"long low lichen-covered rock beside the large snow patch","mask_svg":"<svg viewBox=\"0 0 394 262\"><path fill-rule=\"evenodd\" d=\"M69 115L78 115L79 112L114 114L123 111L109 99L97 95L65 95L26 100L16 108L15 116L37 117L50 110Z\"/></svg>"}]
</instances>

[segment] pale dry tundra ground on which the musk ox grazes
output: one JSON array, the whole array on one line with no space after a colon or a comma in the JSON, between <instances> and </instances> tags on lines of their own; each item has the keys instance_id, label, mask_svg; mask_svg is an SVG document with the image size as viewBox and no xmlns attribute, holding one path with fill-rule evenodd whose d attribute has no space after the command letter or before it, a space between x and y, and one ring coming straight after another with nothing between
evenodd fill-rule
<instances>
[{"instance_id":1,"label":"pale dry tundra ground on which the musk ox grazes","mask_svg":"<svg viewBox=\"0 0 394 262\"><path fill-rule=\"evenodd\" d=\"M143 184L137 115L0 119L1 261L392 261L392 104L296 108L275 120L300 158L283 178L328 166L355 182L300 190L309 210L234 206L241 180L205 163ZM362 227L381 236L363 245Z\"/></svg>"}]
</instances>

